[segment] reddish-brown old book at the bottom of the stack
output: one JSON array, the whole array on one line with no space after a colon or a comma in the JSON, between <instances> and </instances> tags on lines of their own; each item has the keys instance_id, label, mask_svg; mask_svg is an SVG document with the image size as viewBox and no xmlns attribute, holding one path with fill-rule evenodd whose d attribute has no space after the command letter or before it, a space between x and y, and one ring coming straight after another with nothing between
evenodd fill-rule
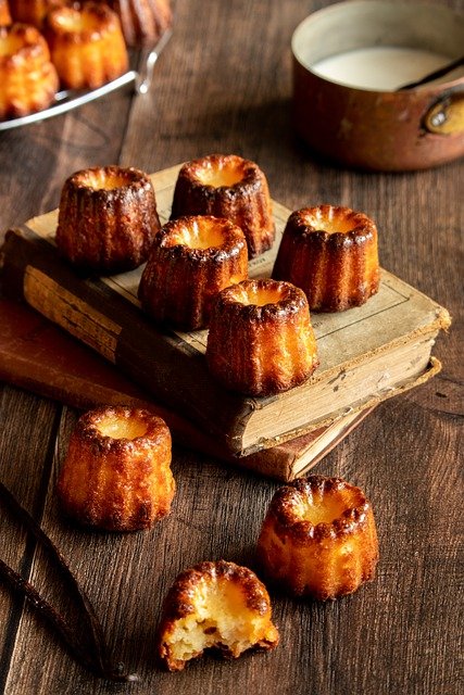
<instances>
[{"instance_id":1,"label":"reddish-brown old book at the bottom of the stack","mask_svg":"<svg viewBox=\"0 0 464 695\"><path fill-rule=\"evenodd\" d=\"M174 442L285 482L308 472L371 413L367 408L347 415L250 456L230 456L191 422L156 404L96 352L27 304L4 298L0 298L0 379L83 409L121 404L149 408L167 422Z\"/></svg>"}]
</instances>

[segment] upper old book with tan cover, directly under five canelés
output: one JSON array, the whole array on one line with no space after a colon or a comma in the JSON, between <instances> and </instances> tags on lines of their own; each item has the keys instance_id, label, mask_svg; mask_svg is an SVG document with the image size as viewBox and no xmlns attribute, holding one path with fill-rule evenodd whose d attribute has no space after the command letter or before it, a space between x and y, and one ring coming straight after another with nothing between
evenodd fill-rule
<instances>
[{"instance_id":1,"label":"upper old book with tan cover, directly under five canel\u00e9s","mask_svg":"<svg viewBox=\"0 0 464 695\"><path fill-rule=\"evenodd\" d=\"M160 217L170 215L178 167L152 176ZM274 203L276 242L250 263L269 275L290 211ZM83 278L58 256L57 211L10 230L3 247L4 288L24 299L142 383L163 405L243 456L327 427L411 389L440 368L430 357L448 312L387 270L379 292L361 307L313 314L321 366L304 384L252 399L226 391L208 371L206 331L162 331L140 309L140 269Z\"/></svg>"}]
</instances>

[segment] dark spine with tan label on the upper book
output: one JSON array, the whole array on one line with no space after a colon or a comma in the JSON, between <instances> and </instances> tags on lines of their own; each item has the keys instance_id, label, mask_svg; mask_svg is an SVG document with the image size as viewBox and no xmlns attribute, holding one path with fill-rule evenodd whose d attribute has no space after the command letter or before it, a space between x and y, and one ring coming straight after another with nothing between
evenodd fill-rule
<instances>
[{"instance_id":1,"label":"dark spine with tan label on the upper book","mask_svg":"<svg viewBox=\"0 0 464 695\"><path fill-rule=\"evenodd\" d=\"M137 306L98 279L79 278L47 241L26 230L10 230L2 248L3 292L25 300L76 337L161 403L215 438L231 455L254 408L220 389L203 355L175 334L156 331ZM200 384L200 386L199 386Z\"/></svg>"}]
</instances>

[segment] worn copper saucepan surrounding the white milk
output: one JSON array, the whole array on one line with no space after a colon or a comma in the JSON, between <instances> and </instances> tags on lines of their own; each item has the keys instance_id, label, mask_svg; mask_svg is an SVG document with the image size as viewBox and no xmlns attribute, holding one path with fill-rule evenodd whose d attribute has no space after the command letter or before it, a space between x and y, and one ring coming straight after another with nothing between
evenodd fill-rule
<instances>
[{"instance_id":1,"label":"worn copper saucepan surrounding the white milk","mask_svg":"<svg viewBox=\"0 0 464 695\"><path fill-rule=\"evenodd\" d=\"M459 63L464 16L437 4L350 0L306 17L291 42L301 137L323 155L374 170L427 168L463 155L463 67L388 91L347 86L313 72L324 59L369 47L421 49Z\"/></svg>"}]
</instances>

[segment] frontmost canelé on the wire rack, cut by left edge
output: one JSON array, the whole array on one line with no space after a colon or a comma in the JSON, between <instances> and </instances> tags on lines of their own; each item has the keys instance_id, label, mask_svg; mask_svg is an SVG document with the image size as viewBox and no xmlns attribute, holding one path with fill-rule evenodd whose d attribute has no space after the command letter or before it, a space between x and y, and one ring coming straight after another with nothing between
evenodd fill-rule
<instances>
[{"instance_id":1,"label":"frontmost canel\u00e9 on the wire rack, cut by left edge","mask_svg":"<svg viewBox=\"0 0 464 695\"><path fill-rule=\"evenodd\" d=\"M59 87L45 38L33 26L0 28L0 118L47 109Z\"/></svg>"}]
</instances>

